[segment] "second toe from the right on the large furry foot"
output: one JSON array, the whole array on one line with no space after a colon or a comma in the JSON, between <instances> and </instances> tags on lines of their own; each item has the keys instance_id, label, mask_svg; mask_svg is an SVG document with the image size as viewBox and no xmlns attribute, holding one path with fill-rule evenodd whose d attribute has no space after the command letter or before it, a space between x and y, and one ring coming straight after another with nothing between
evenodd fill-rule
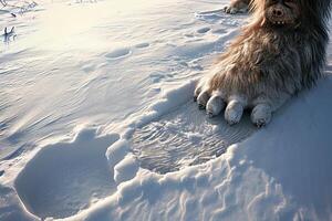
<instances>
[{"instance_id":1,"label":"second toe from the right on the large furry foot","mask_svg":"<svg viewBox=\"0 0 332 221\"><path fill-rule=\"evenodd\" d=\"M228 103L225 110L225 119L229 125L238 124L243 114L243 105L236 99Z\"/></svg>"}]
</instances>

